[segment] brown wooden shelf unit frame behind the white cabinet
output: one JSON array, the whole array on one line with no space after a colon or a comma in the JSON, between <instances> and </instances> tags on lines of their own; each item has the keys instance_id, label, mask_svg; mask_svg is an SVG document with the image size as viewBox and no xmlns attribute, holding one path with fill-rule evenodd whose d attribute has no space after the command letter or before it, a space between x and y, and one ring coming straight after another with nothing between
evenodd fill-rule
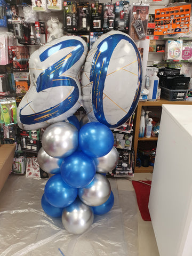
<instances>
[{"instance_id":1,"label":"brown wooden shelf unit frame behind the white cabinet","mask_svg":"<svg viewBox=\"0 0 192 256\"><path fill-rule=\"evenodd\" d=\"M150 138L139 138L139 125L140 125L140 118L141 118L141 108L145 106L162 106L163 104L171 104L171 105L192 105L192 101L169 101L165 99L160 99L156 101L139 101L136 111L136 118L135 118L135 126L134 126L134 152L135 152L135 161L134 165L136 164L137 159L137 150L138 150L138 142L139 141L157 141L158 137L150 137ZM143 166L134 166L134 173L141 173L141 172L153 172L153 166L143 167Z\"/></svg>"}]
</instances>

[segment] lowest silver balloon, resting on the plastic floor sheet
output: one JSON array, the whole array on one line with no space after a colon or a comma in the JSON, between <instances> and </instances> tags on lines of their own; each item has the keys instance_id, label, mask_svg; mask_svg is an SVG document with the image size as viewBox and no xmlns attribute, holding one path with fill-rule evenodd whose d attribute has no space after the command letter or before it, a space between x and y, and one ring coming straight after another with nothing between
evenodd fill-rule
<instances>
[{"instance_id":1,"label":"lowest silver balloon, resting on the plastic floor sheet","mask_svg":"<svg viewBox=\"0 0 192 256\"><path fill-rule=\"evenodd\" d=\"M92 207L84 204L78 197L62 212L63 227L72 234L83 234L91 227L94 219Z\"/></svg>"}]
</instances>

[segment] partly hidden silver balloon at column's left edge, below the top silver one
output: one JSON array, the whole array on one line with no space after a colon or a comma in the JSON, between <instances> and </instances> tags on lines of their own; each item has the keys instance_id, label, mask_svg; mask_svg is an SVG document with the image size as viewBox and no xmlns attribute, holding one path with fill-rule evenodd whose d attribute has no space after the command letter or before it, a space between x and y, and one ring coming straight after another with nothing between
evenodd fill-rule
<instances>
[{"instance_id":1,"label":"partly hidden silver balloon at column's left edge, below the top silver one","mask_svg":"<svg viewBox=\"0 0 192 256\"><path fill-rule=\"evenodd\" d=\"M55 174L60 172L63 159L46 154L43 147L41 147L37 154L37 161L43 171Z\"/></svg>"}]
</instances>

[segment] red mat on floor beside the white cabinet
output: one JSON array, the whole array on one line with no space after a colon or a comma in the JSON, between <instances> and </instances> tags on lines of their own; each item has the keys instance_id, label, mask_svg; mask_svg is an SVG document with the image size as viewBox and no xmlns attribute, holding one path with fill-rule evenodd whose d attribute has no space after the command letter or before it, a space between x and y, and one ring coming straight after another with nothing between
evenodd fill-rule
<instances>
[{"instance_id":1,"label":"red mat on floor beside the white cabinet","mask_svg":"<svg viewBox=\"0 0 192 256\"><path fill-rule=\"evenodd\" d=\"M141 181L147 184L151 184L150 180L141 180ZM149 194L150 194L151 186L144 184L142 182L133 180L132 184L137 196L137 202L138 202L139 211L141 213L142 219L151 221L149 209L148 209Z\"/></svg>"}]
</instances>

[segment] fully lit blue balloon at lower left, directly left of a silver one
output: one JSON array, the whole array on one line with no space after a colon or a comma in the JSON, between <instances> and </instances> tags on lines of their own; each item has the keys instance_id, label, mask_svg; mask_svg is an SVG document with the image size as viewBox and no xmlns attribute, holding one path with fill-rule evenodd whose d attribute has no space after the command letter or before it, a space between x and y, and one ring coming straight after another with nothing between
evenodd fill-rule
<instances>
[{"instance_id":1,"label":"fully lit blue balloon at lower left, directly left of a silver one","mask_svg":"<svg viewBox=\"0 0 192 256\"><path fill-rule=\"evenodd\" d=\"M77 197L77 188L70 187L61 177L61 174L53 175L45 185L45 198L55 207L66 207L73 203Z\"/></svg>"}]
</instances>

